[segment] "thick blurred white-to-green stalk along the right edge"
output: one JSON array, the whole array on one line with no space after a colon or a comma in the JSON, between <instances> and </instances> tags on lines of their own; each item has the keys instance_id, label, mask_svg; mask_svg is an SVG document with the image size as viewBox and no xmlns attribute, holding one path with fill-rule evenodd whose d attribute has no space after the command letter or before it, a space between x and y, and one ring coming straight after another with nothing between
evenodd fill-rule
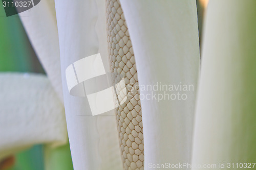
<instances>
[{"instance_id":1,"label":"thick blurred white-to-green stalk along the right edge","mask_svg":"<svg viewBox=\"0 0 256 170\"><path fill-rule=\"evenodd\" d=\"M218 169L219 163L225 163L223 169L228 169L229 162L231 168L237 169L236 163L240 167L240 163L255 162L255 16L253 0L209 2L195 122L194 164L217 164ZM245 164L241 167L245 169Z\"/></svg>"}]
</instances>

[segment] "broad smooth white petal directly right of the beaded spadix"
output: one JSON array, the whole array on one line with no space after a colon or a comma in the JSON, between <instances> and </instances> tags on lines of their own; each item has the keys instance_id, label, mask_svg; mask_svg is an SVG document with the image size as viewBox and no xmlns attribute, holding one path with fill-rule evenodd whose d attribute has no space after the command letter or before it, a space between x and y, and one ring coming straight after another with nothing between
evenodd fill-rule
<instances>
[{"instance_id":1,"label":"broad smooth white petal directly right of the beaded spadix","mask_svg":"<svg viewBox=\"0 0 256 170\"><path fill-rule=\"evenodd\" d=\"M140 84L145 169L153 164L190 162L199 71L196 1L121 0ZM162 99L141 87L192 85L186 100ZM154 93L162 93L159 89ZM152 95L151 95L152 96ZM173 98L174 99L174 98ZM188 169L188 168L184 168Z\"/></svg>"}]
</instances>

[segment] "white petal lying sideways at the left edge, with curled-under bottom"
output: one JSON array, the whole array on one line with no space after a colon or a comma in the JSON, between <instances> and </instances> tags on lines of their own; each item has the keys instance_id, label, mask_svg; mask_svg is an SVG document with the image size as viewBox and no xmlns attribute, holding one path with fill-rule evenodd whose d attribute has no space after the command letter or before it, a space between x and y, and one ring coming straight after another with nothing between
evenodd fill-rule
<instances>
[{"instance_id":1,"label":"white petal lying sideways at the left edge, with curled-under bottom","mask_svg":"<svg viewBox=\"0 0 256 170\"><path fill-rule=\"evenodd\" d=\"M64 108L44 75L0 74L0 159L38 143L67 142Z\"/></svg>"}]
</instances>

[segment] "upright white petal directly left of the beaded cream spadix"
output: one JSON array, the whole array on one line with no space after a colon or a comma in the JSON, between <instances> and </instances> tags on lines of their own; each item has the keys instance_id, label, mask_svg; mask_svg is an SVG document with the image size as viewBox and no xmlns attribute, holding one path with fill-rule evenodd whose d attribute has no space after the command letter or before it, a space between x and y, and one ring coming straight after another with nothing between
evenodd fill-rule
<instances>
[{"instance_id":1,"label":"upright white petal directly left of the beaded cream spadix","mask_svg":"<svg viewBox=\"0 0 256 170\"><path fill-rule=\"evenodd\" d=\"M106 51L104 0L55 1L58 23L63 96L72 160L75 170L121 169L115 116L91 116L87 98L72 96L67 87L66 68Z\"/></svg>"}]
</instances>

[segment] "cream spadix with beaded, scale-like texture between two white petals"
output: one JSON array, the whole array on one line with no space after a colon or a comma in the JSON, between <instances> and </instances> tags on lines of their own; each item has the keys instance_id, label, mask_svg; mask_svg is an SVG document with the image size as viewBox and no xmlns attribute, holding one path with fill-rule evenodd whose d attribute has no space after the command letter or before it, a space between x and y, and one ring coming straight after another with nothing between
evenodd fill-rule
<instances>
[{"instance_id":1,"label":"cream spadix with beaded, scale-like texture between two white petals","mask_svg":"<svg viewBox=\"0 0 256 170\"><path fill-rule=\"evenodd\" d=\"M113 85L123 77L114 95L125 103L115 110L124 169L144 169L144 142L138 76L132 42L118 0L106 1L109 61ZM127 89L127 95L123 90Z\"/></svg>"}]
</instances>

